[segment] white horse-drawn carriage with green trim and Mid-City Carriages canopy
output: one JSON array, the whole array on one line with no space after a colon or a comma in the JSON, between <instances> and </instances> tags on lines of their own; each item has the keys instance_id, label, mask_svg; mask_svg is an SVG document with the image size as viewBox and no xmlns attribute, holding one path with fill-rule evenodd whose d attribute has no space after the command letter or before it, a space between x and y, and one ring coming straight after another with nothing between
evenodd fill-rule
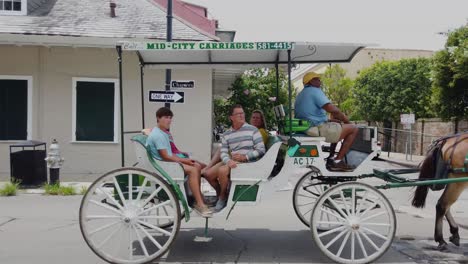
<instances>
[{"instance_id":1,"label":"white horse-drawn carriage with green trim and Mid-City Carriages canopy","mask_svg":"<svg viewBox=\"0 0 468 264\"><path fill-rule=\"evenodd\" d=\"M292 63L345 62L362 48L346 44L251 44L255 49L195 50L195 61L186 64L201 64L196 60L204 58L202 52L207 52L205 64L287 64L290 75ZM177 64L168 55L173 53L153 50L150 43L123 43L118 46L119 56L122 49L136 50L141 57L163 53L161 64ZM261 59L253 61L254 55ZM216 58L221 62L216 62ZM122 63L121 57L119 62ZM289 88L291 92L290 81ZM282 106L275 112L280 123L292 131L288 121L292 114L285 113ZM377 130L360 128L347 154L348 163L356 167L352 172L327 170L323 140L292 133L272 137L260 160L232 170L227 206L214 217L227 217L235 206L257 204L262 195L283 189L291 176L304 171L293 182L292 206L300 221L310 227L320 250L339 263L378 259L395 235L395 213L379 190L357 182L372 173L366 164L377 155ZM182 166L153 159L145 141L143 135L134 136L137 163L101 176L81 203L83 237L99 257L110 263L148 263L163 256L177 238L181 220L189 221L194 214ZM390 175L391 178L383 176L384 180L398 181Z\"/></svg>"}]
</instances>

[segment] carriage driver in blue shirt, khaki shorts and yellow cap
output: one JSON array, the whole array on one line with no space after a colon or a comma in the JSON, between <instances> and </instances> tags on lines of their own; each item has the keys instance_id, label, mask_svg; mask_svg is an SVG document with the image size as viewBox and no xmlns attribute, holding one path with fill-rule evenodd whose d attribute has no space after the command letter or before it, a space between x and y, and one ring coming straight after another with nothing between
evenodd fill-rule
<instances>
[{"instance_id":1,"label":"carriage driver in blue shirt, khaki shorts and yellow cap","mask_svg":"<svg viewBox=\"0 0 468 264\"><path fill-rule=\"evenodd\" d=\"M325 137L329 143L344 140L336 157L329 158L327 167L331 171L352 171L343 160L358 134L358 128L349 122L348 117L322 91L320 74L308 72L302 79L304 89L297 95L294 106L295 117L309 121L306 134L312 137ZM333 116L329 120L327 112ZM333 147L332 147L333 148Z\"/></svg>"}]
</instances>

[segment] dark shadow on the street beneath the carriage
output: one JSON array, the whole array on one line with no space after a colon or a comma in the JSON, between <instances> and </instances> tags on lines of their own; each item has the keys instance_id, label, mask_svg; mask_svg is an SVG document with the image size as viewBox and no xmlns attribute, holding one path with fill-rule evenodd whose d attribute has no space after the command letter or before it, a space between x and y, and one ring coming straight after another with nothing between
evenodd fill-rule
<instances>
[{"instance_id":1,"label":"dark shadow on the street beneath the carriage","mask_svg":"<svg viewBox=\"0 0 468 264\"><path fill-rule=\"evenodd\" d=\"M210 229L211 242L194 242L204 229L181 229L169 253L168 263L333 263L314 244L311 232L269 229ZM390 248L378 263L408 263ZM155 262L156 263L156 262Z\"/></svg>"}]
</instances>

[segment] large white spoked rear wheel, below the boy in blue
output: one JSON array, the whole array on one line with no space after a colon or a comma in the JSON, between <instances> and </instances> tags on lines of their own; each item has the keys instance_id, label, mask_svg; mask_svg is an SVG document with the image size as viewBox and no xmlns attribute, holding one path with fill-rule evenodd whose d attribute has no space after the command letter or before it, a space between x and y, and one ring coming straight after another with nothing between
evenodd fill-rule
<instances>
[{"instance_id":1,"label":"large white spoked rear wheel, below the boy in blue","mask_svg":"<svg viewBox=\"0 0 468 264\"><path fill-rule=\"evenodd\" d=\"M159 175L121 168L96 180L80 206L80 229L99 257L110 263L148 263L161 257L180 228L180 206ZM170 222L166 229L161 221Z\"/></svg>"}]
</instances>

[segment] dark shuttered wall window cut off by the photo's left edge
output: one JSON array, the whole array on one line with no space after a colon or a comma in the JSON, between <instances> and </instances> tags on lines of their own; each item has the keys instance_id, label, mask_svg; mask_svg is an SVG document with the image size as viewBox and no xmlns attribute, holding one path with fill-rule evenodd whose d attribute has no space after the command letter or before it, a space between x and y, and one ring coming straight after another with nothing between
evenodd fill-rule
<instances>
[{"instance_id":1,"label":"dark shuttered wall window cut off by the photo's left edge","mask_svg":"<svg viewBox=\"0 0 468 264\"><path fill-rule=\"evenodd\" d=\"M31 139L32 77L0 75L0 140Z\"/></svg>"}]
</instances>

